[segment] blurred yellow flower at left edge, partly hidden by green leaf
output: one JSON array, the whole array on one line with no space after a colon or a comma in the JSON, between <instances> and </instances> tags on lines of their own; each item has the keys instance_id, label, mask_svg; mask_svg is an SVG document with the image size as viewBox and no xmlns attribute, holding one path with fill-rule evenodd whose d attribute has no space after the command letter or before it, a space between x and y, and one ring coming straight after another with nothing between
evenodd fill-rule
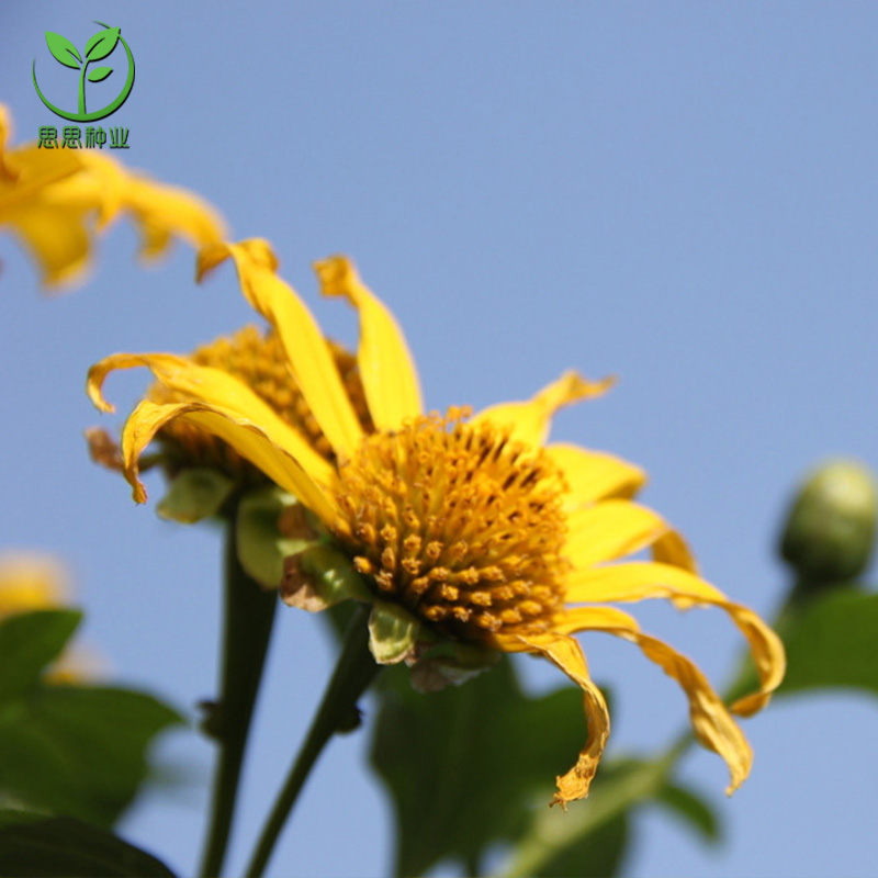
<instances>
[{"instance_id":1,"label":"blurred yellow flower at left edge, partly hidden by green leaf","mask_svg":"<svg viewBox=\"0 0 878 878\"><path fill-rule=\"evenodd\" d=\"M54 610L70 605L67 571L48 555L0 553L0 621L22 612ZM81 648L64 651L49 667L52 683L83 683L100 673L101 662Z\"/></svg>"}]
</instances>

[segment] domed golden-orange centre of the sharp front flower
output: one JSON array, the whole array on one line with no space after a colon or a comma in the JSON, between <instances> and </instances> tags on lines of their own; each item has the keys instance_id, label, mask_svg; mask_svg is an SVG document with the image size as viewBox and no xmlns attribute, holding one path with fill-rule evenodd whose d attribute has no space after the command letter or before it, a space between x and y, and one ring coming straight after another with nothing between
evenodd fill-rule
<instances>
[{"instance_id":1,"label":"domed golden-orange centre of the sharp front flower","mask_svg":"<svg viewBox=\"0 0 878 878\"><path fill-rule=\"evenodd\" d=\"M381 596L477 640L563 604L566 488L541 450L468 414L368 436L339 469L335 531Z\"/></svg>"}]
</instances>

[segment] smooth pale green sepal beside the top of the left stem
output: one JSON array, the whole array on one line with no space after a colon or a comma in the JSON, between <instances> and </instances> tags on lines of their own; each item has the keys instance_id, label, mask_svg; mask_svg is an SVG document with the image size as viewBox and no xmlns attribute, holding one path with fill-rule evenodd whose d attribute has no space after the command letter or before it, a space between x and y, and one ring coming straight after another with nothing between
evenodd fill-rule
<instances>
[{"instance_id":1,"label":"smooth pale green sepal beside the top of the left stem","mask_svg":"<svg viewBox=\"0 0 878 878\"><path fill-rule=\"evenodd\" d=\"M257 488L238 505L235 528L238 560L248 576L262 588L278 588L283 579L283 562L314 544L315 534L283 536L280 520L285 509L297 505L291 494L278 487Z\"/></svg>"}]
</instances>

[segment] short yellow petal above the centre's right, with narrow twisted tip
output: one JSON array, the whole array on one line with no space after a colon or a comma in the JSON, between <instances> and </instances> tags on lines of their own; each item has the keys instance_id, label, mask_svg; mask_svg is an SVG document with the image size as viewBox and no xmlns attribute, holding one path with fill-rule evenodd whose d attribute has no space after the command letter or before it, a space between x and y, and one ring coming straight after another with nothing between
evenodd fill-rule
<instances>
[{"instance_id":1,"label":"short yellow petal above the centre's right, with narrow twisted tip","mask_svg":"<svg viewBox=\"0 0 878 878\"><path fill-rule=\"evenodd\" d=\"M615 383L616 379L612 378L587 381L577 372L565 372L529 402L493 405L480 412L473 418L473 424L486 420L498 427L506 427L511 431L513 439L536 448L549 436L552 415L559 408L581 399L600 396Z\"/></svg>"}]
</instances>

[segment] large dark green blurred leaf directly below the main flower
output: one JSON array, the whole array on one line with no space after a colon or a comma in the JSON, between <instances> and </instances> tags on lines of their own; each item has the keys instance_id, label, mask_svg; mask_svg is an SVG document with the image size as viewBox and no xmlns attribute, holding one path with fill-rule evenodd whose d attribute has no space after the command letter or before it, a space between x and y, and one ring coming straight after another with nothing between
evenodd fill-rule
<instances>
[{"instance_id":1,"label":"large dark green blurred leaf directly below the main flower","mask_svg":"<svg viewBox=\"0 0 878 878\"><path fill-rule=\"evenodd\" d=\"M396 874L446 858L465 868L516 838L534 793L570 768L585 741L582 696L526 696L506 656L460 688L421 695L408 676L384 672L371 753L393 797Z\"/></svg>"}]
</instances>

